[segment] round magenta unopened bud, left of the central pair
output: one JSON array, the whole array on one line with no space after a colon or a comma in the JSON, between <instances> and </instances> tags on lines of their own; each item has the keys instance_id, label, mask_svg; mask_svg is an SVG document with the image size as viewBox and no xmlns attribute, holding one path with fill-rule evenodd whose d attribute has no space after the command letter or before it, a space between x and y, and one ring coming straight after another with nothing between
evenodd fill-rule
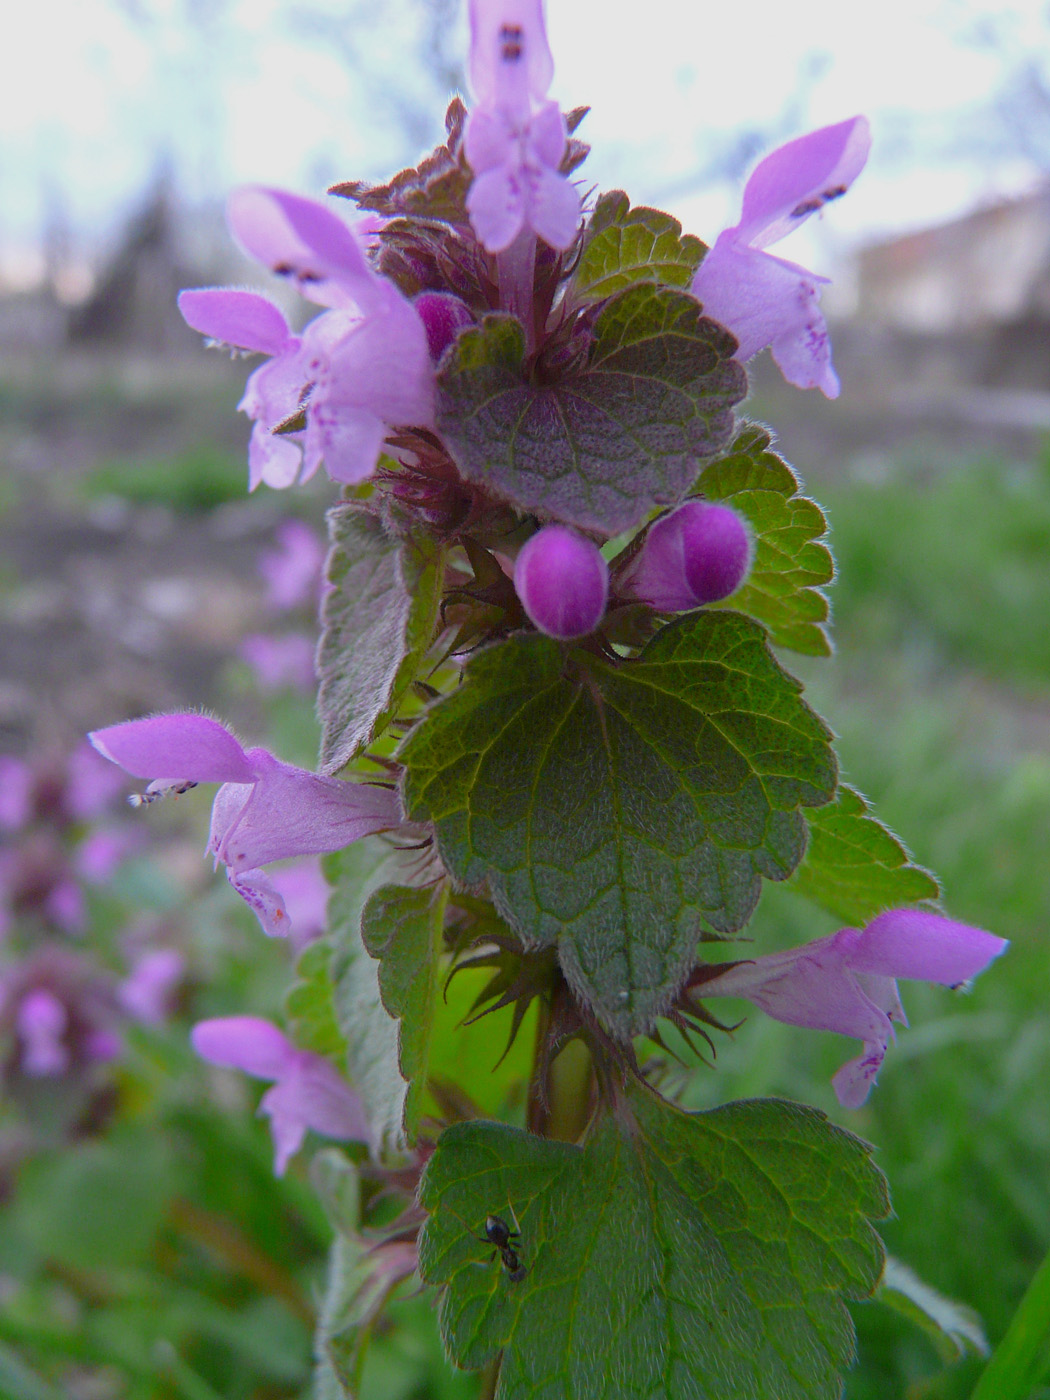
<instances>
[{"instance_id":1,"label":"round magenta unopened bud, left of the central pair","mask_svg":"<svg viewBox=\"0 0 1050 1400\"><path fill-rule=\"evenodd\" d=\"M546 525L518 554L514 587L536 627L567 641L585 637L602 620L609 566L589 539L566 525Z\"/></svg>"}]
</instances>

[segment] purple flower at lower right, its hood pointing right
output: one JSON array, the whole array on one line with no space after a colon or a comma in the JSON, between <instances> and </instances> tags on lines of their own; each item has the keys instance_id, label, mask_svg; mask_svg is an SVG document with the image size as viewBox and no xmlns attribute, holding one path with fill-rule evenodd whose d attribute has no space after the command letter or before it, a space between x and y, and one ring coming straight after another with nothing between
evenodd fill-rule
<instances>
[{"instance_id":1,"label":"purple flower at lower right, its hood pointing right","mask_svg":"<svg viewBox=\"0 0 1050 1400\"><path fill-rule=\"evenodd\" d=\"M893 1022L907 1025L896 977L958 987L1007 948L1004 938L918 909L890 909L867 928L843 928L802 948L704 969L700 997L746 997L776 1021L837 1030L864 1042L832 1084L839 1102L858 1109L868 1098Z\"/></svg>"}]
</instances>

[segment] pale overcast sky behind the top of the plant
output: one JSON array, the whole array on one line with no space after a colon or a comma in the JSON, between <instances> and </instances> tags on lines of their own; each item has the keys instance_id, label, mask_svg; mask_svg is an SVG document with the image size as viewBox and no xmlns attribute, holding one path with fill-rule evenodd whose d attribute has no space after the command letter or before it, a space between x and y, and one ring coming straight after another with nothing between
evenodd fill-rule
<instances>
[{"instance_id":1,"label":"pale overcast sky behind the top of the plant","mask_svg":"<svg viewBox=\"0 0 1050 1400\"><path fill-rule=\"evenodd\" d=\"M424 67L426 3L13 4L0 249L36 237L46 199L60 200L74 230L98 235L161 154L192 199L251 179L319 193L335 178L389 172L419 141L417 118L412 130L392 119L398 92L417 109L433 95L440 133L444 80ZM333 21L339 45L319 39L302 10ZM1002 84L1011 52L1047 57L1040 0L547 0L547 10L553 95L592 106L581 133L594 146L589 179L624 185L704 237L735 217L739 196L736 182L713 182L713 165L732 164L763 133L781 140L857 111L872 118L874 155L813 232L825 252L952 217L1037 176L1021 154L988 150L974 113ZM1000 42L981 49L974 31L991 15ZM465 35L462 14L456 25ZM448 41L455 55L455 25ZM347 52L367 57L368 71L351 69Z\"/></svg>"}]
</instances>

